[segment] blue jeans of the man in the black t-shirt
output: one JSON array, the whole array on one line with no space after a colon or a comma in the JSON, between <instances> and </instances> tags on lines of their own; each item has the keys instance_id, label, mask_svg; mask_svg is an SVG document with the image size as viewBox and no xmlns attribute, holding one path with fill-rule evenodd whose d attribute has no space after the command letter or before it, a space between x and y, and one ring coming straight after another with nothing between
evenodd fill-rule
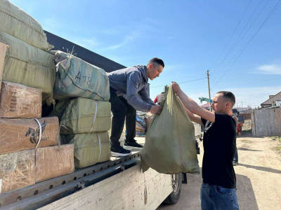
<instances>
[{"instance_id":1,"label":"blue jeans of the man in the black t-shirt","mask_svg":"<svg viewBox=\"0 0 281 210\"><path fill-rule=\"evenodd\" d=\"M202 210L239 210L235 188L202 183L200 199Z\"/></svg>"}]
</instances>

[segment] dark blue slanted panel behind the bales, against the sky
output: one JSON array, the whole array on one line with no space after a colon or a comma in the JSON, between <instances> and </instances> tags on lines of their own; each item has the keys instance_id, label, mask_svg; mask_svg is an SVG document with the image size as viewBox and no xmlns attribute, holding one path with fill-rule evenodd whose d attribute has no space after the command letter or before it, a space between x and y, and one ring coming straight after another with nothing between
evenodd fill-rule
<instances>
[{"instance_id":1,"label":"dark blue slanted panel behind the bales, against the sky","mask_svg":"<svg viewBox=\"0 0 281 210\"><path fill-rule=\"evenodd\" d=\"M65 38L56 36L55 34L52 34L48 31L44 32L48 38L48 43L55 46L55 48L53 48L52 50L60 50L63 52L67 52L67 49L68 51L71 51L74 46L74 53L77 53L77 57L83 59L86 62L89 62L90 64L98 66L107 72L126 68L126 66L123 66L122 64L118 64L117 62L114 62L111 59L98 55L97 53L83 48L80 45L77 45L76 43L67 41Z\"/></svg>"}]
</instances>

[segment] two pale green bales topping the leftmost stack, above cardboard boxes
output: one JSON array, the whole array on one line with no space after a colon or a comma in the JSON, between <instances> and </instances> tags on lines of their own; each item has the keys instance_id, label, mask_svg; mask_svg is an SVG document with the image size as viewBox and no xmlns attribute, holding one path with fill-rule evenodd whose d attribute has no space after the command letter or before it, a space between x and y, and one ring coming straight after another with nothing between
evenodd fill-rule
<instances>
[{"instance_id":1,"label":"two pale green bales topping the leftmost stack, above cardboard boxes","mask_svg":"<svg viewBox=\"0 0 281 210\"><path fill-rule=\"evenodd\" d=\"M30 15L8 0L0 3L0 43L9 45L3 80L42 90L42 100L53 102L55 57L44 51L53 46Z\"/></svg>"}]
</instances>

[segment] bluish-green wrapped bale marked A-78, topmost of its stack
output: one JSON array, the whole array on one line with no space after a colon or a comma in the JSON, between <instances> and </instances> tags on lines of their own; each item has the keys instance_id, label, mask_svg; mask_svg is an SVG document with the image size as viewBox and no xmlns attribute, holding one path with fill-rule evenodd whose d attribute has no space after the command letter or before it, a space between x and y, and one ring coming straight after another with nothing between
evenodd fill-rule
<instances>
[{"instance_id":1,"label":"bluish-green wrapped bale marked A-78, topmost of its stack","mask_svg":"<svg viewBox=\"0 0 281 210\"><path fill-rule=\"evenodd\" d=\"M108 102L110 82L103 69L93 66L73 55L57 64L57 75L53 89L59 101L73 97Z\"/></svg>"}]
</instances>

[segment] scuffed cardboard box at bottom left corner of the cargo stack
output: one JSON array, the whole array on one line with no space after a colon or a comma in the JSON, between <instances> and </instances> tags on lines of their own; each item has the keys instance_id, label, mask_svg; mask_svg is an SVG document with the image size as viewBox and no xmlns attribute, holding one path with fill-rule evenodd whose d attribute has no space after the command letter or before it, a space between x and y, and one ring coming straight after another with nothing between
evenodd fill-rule
<instances>
[{"instance_id":1,"label":"scuffed cardboard box at bottom left corner of the cargo stack","mask_svg":"<svg viewBox=\"0 0 281 210\"><path fill-rule=\"evenodd\" d=\"M35 150L0 155L0 194L34 185Z\"/></svg>"}]
</instances>

